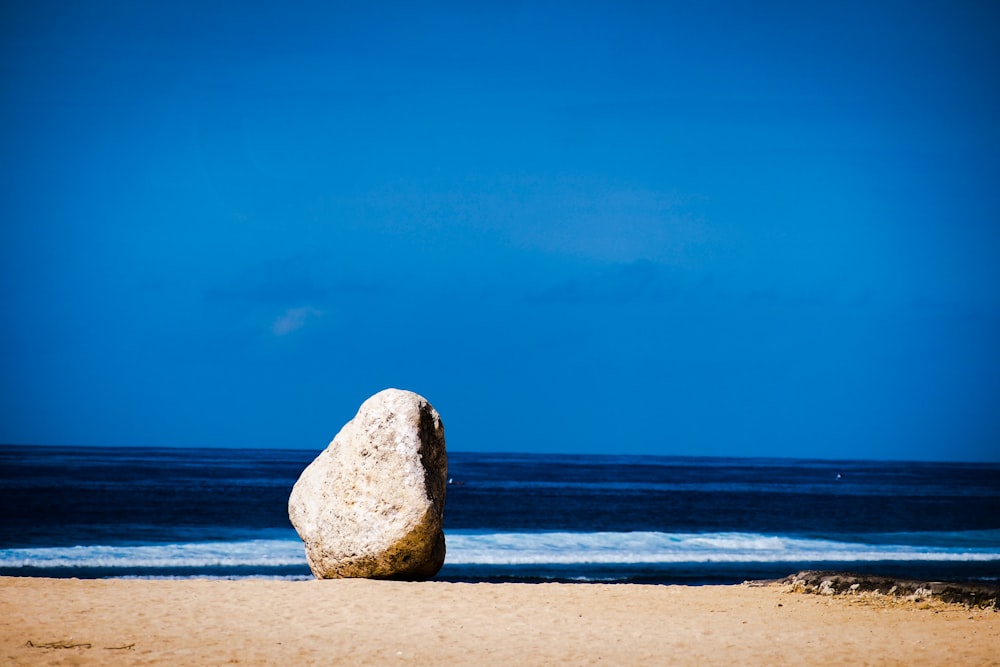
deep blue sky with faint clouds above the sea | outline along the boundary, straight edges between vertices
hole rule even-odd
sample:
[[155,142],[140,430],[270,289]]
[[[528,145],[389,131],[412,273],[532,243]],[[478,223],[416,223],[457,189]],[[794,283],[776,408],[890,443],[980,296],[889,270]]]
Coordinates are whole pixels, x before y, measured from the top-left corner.
[[1000,460],[990,3],[354,4],[3,3],[0,441]]

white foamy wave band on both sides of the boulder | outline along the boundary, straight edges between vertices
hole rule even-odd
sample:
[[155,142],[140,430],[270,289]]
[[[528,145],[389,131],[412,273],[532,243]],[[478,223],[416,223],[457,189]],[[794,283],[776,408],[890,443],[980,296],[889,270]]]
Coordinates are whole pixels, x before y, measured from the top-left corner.
[[[864,544],[755,533],[447,534],[449,565],[1000,561],[1000,545]],[[0,568],[306,568],[298,540],[0,550]]]

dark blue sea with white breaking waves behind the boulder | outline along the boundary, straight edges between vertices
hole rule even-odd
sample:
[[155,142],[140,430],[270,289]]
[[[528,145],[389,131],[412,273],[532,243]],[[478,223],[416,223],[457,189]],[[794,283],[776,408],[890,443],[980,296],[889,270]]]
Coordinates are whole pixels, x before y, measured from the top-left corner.
[[[308,578],[318,450],[0,446],[0,575]],[[1000,465],[449,453],[451,581],[1000,581]]]

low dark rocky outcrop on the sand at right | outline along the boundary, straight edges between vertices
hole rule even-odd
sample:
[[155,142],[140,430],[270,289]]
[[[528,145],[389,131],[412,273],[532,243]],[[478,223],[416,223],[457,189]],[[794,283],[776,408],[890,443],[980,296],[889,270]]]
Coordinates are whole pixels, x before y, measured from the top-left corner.
[[791,586],[793,591],[817,595],[886,595],[912,600],[934,599],[979,609],[1000,609],[1000,585],[986,583],[896,579],[852,572],[803,570],[771,582]]

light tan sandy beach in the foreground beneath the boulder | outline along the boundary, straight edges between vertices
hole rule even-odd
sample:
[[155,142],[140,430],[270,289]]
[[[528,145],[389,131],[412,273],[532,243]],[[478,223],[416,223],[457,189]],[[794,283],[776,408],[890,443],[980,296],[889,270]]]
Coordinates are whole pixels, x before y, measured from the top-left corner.
[[781,586],[0,578],[0,663],[1000,665],[1000,614]]

